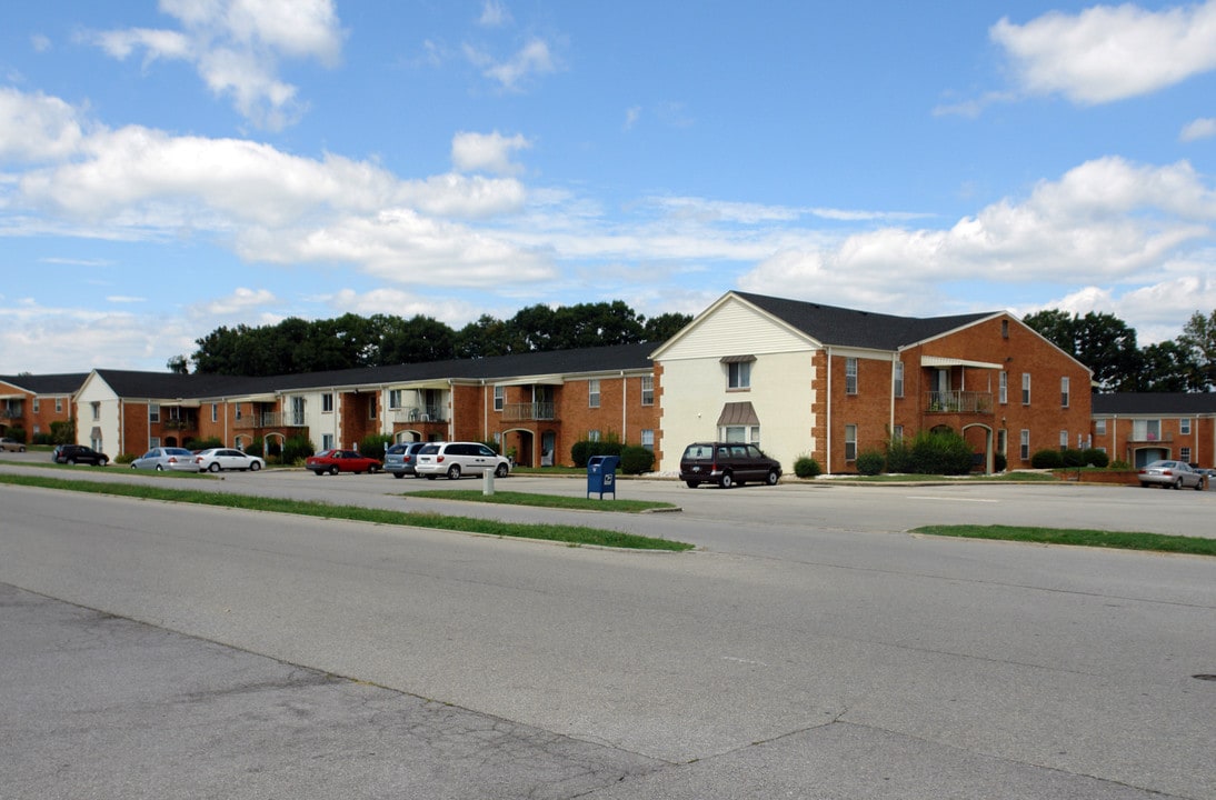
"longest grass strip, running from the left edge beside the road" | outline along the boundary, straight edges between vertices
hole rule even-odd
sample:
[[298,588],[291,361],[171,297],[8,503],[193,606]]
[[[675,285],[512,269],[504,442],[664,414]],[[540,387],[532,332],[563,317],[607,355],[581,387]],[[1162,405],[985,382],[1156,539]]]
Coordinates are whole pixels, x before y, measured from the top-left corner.
[[321,517],[323,519],[350,519],[355,522],[376,523],[381,525],[409,525],[412,528],[434,528],[438,530],[457,530],[486,536],[539,539],[544,541],[575,545],[597,545],[601,547],[621,547],[629,550],[692,550],[692,545],[638,536],[601,528],[580,528],[572,525],[540,525],[528,523],[507,523],[497,519],[474,519],[472,517],[449,517],[422,512],[388,511],[366,508],[362,506],[336,506],[319,501],[286,500],[278,497],[258,497],[196,489],[168,489],[136,484],[98,483],[90,480],[64,480],[61,478],[41,478],[33,475],[0,475],[0,483],[41,489],[60,489],[64,491],[83,491],[95,495],[117,495],[139,497],[142,500],[161,500],[199,506],[218,506],[242,511],[269,511],[281,514],[300,514]]

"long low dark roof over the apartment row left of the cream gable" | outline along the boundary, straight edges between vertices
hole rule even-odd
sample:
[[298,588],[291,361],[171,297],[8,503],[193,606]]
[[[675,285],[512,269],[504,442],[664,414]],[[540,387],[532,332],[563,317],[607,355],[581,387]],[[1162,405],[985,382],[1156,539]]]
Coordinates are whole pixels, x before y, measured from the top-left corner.
[[648,370],[652,366],[649,353],[654,347],[653,343],[620,344],[606,348],[518,353],[485,359],[452,359],[427,364],[356,367],[260,378],[126,370],[97,370],[97,374],[122,398],[233,398],[270,391],[361,387],[445,378],[492,381],[534,374]]

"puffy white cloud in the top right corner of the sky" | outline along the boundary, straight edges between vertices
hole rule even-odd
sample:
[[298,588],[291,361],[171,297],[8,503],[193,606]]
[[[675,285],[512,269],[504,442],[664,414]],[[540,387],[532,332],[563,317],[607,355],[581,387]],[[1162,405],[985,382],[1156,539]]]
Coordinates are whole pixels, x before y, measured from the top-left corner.
[[1216,69],[1216,0],[1161,11],[1131,4],[1053,11],[1024,26],[1003,18],[990,35],[1023,90],[1105,103]]

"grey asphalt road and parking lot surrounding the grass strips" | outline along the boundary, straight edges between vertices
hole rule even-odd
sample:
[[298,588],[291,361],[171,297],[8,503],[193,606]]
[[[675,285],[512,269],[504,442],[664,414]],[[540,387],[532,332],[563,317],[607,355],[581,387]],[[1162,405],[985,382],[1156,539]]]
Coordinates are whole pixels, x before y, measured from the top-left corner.
[[[383,475],[182,483],[457,508]],[[0,486],[0,794],[1216,799],[1216,559],[903,533],[1210,535],[1216,494],[620,494],[685,511],[563,517],[702,550]]]

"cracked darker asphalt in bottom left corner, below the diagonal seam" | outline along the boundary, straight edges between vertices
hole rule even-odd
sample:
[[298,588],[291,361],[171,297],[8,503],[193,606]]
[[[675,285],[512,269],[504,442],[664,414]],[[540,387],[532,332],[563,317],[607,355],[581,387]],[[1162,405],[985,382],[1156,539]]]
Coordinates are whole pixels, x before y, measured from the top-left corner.
[[0,795],[573,798],[663,767],[0,584]]

